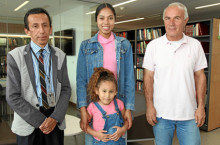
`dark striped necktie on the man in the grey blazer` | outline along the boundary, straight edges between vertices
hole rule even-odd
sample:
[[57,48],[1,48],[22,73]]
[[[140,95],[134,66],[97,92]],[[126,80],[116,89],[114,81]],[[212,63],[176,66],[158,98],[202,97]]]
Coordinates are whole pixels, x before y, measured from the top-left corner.
[[46,73],[44,71],[44,58],[43,58],[43,51],[44,49],[40,49],[40,55],[39,55],[39,74],[40,74],[40,86],[41,86],[41,94],[42,94],[42,104],[43,106],[48,109],[48,101],[47,101],[47,89],[46,89],[46,82],[45,82],[45,76]]

